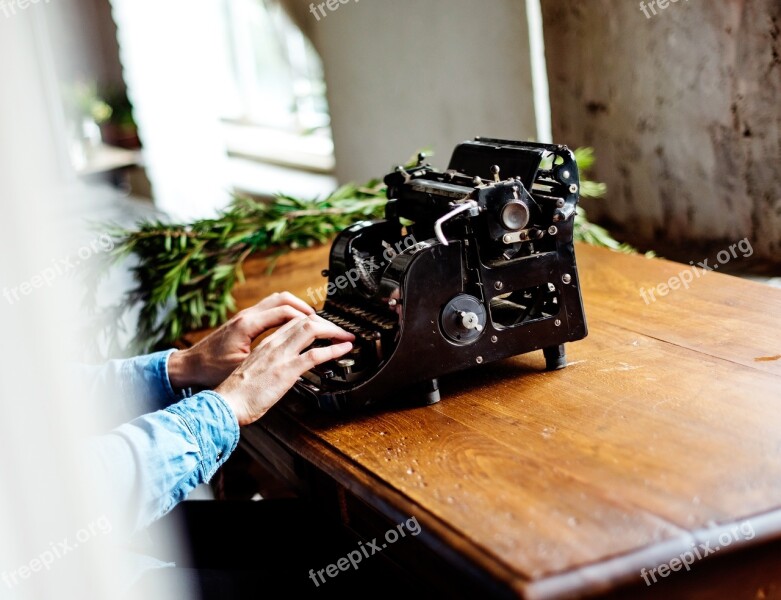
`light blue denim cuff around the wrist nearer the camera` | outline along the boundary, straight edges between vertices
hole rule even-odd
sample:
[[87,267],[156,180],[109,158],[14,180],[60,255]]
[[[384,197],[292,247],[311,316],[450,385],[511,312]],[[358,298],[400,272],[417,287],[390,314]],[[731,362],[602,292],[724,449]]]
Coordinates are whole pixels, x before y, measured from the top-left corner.
[[233,410],[217,392],[205,391],[166,411],[180,417],[197,440],[203,481],[209,481],[239,445],[239,422]]

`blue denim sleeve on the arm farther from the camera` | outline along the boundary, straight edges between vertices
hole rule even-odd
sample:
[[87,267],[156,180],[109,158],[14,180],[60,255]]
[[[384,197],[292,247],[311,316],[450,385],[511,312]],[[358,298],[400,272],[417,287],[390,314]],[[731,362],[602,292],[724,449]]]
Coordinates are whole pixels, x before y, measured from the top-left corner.
[[175,350],[155,352],[124,360],[110,360],[100,366],[81,365],[78,376],[89,399],[113,423],[161,410],[177,396],[168,379],[168,357]]

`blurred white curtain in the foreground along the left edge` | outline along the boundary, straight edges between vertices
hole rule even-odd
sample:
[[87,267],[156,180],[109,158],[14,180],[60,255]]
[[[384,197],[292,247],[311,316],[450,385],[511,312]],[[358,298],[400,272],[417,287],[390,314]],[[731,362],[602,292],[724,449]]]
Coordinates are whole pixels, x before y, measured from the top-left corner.
[[[0,61],[0,598],[91,600],[115,597],[130,574],[79,449],[105,430],[68,385],[82,343],[79,280],[35,283],[73,250],[61,221],[73,175],[50,45],[68,21],[49,8],[0,17],[0,55],[13,57]],[[106,527],[92,535],[97,521]]]

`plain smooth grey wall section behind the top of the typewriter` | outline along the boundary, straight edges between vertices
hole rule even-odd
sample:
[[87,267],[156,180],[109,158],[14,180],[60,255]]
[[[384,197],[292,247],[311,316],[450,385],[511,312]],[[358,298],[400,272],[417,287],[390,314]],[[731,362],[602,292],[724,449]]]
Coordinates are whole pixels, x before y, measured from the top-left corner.
[[536,136],[525,2],[361,0],[319,21],[294,4],[325,65],[341,181],[425,146],[444,167],[476,135]]

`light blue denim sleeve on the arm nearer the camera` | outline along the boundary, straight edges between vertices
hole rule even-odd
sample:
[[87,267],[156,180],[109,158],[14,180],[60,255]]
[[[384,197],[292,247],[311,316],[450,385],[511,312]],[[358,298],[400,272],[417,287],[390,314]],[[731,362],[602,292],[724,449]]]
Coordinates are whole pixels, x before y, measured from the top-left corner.
[[208,482],[235,450],[239,424],[205,391],[88,442],[88,460],[112,512],[136,532]]

